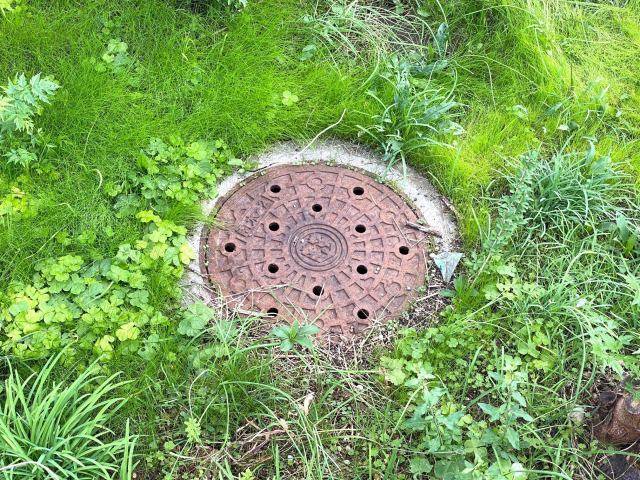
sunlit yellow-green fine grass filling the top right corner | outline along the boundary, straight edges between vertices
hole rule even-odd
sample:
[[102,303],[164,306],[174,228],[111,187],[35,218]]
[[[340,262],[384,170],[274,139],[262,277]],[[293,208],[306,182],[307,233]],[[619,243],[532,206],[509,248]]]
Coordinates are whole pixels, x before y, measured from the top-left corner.
[[[612,2],[613,3],[613,2]],[[444,3],[457,64],[457,92],[466,104],[467,133],[453,149],[425,152],[415,162],[435,172],[465,212],[463,231],[476,235],[479,192],[504,159],[530,148],[601,151],[628,161],[640,178],[640,6],[626,2],[476,0]],[[440,8],[428,10],[434,25]],[[601,98],[602,95],[602,98]],[[549,107],[562,102],[554,115]],[[526,108],[518,116],[516,105]],[[604,109],[604,115],[597,111]],[[616,118],[620,112],[621,117]],[[563,133],[561,125],[576,122]],[[570,147],[571,148],[571,147]]]

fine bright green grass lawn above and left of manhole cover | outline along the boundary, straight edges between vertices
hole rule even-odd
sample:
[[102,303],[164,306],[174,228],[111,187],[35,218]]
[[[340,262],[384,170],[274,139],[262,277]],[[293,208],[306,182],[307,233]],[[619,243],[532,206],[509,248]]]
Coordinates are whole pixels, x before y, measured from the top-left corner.
[[[135,88],[127,76],[97,73],[90,63],[104,51],[99,19],[108,12],[122,25],[111,36],[126,41],[139,62]],[[93,247],[71,246],[85,255],[92,248],[108,254],[136,238],[138,226],[115,218],[100,185],[131,171],[150,137],[222,138],[247,155],[278,140],[310,138],[344,108],[357,109],[357,72],[298,61],[300,16],[292,1],[260,3],[225,30],[215,15],[163,1],[82,9],[43,2],[0,23],[0,71],[44,72],[63,86],[40,123],[56,145],[53,172],[32,175],[23,188],[40,199],[39,215],[0,232],[0,284],[24,280],[34,261],[68,252],[55,241],[58,232],[95,232]],[[285,90],[300,102],[284,107]]]

